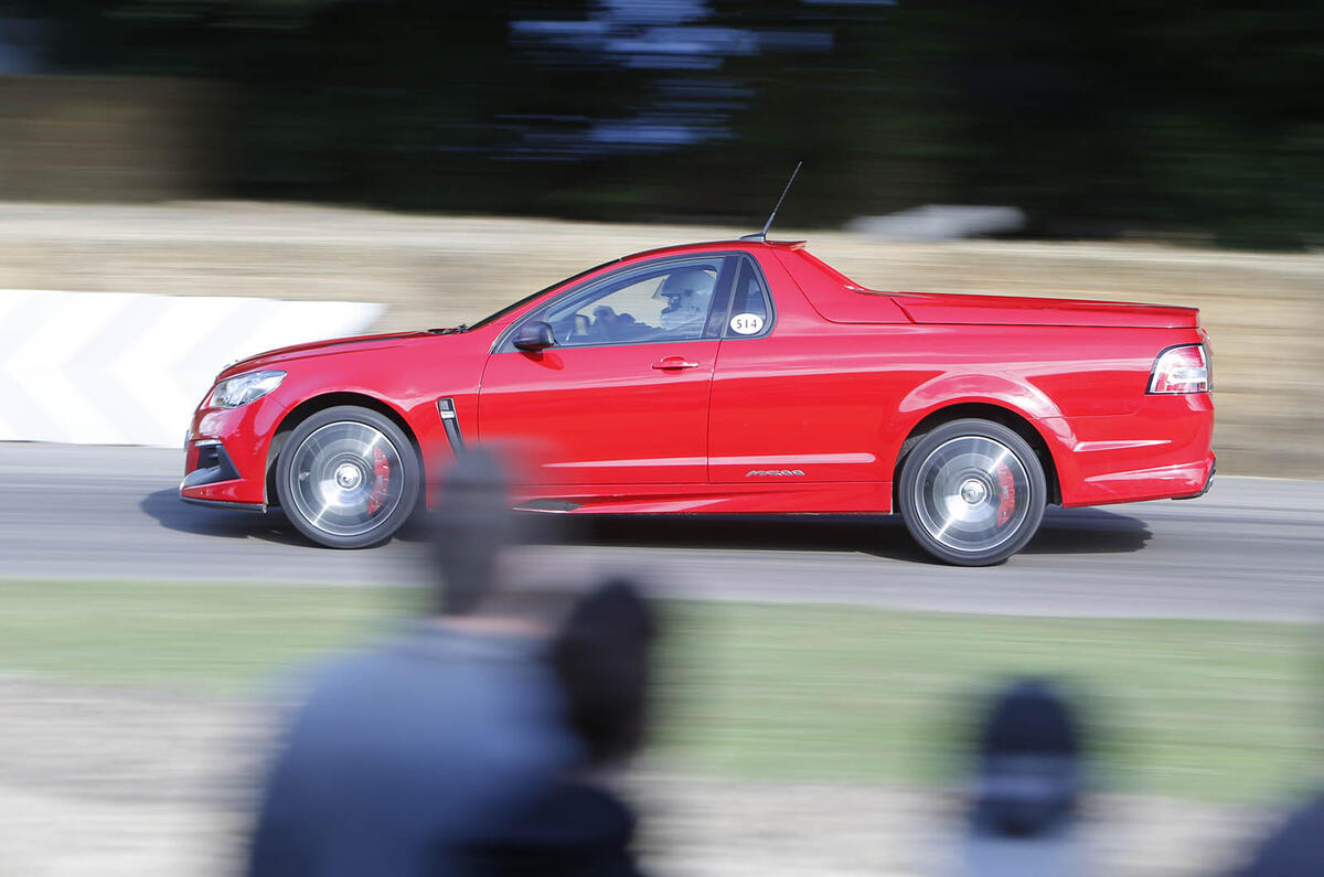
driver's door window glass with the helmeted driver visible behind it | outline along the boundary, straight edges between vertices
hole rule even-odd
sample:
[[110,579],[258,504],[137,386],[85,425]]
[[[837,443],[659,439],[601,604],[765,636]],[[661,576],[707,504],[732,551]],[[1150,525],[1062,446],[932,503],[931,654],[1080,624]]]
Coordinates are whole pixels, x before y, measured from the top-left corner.
[[563,347],[703,336],[724,257],[645,266],[555,302],[542,317]]

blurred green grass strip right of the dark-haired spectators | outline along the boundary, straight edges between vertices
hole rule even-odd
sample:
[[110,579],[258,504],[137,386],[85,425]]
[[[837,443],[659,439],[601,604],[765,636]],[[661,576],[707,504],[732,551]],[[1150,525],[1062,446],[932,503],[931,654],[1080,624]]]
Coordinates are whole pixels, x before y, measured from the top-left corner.
[[1324,742],[1301,625],[683,605],[667,746],[722,772],[949,778],[973,706],[1013,674],[1079,698],[1108,784],[1275,796]]

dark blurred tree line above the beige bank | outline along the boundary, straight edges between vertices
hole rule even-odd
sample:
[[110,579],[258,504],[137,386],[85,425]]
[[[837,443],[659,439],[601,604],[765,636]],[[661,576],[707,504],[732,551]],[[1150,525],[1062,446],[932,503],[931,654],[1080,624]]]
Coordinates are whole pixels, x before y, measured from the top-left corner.
[[796,227],[992,204],[1049,238],[1324,229],[1313,3],[0,8],[9,199],[748,227],[804,159]]

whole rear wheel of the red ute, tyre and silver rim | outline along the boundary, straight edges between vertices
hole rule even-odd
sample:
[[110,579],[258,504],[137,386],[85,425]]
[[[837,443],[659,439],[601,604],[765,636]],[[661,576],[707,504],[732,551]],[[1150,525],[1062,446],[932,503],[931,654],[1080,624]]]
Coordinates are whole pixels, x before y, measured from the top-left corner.
[[1049,495],[1034,449],[989,420],[953,420],[922,437],[902,462],[896,493],[915,542],[944,563],[967,567],[1023,548]]

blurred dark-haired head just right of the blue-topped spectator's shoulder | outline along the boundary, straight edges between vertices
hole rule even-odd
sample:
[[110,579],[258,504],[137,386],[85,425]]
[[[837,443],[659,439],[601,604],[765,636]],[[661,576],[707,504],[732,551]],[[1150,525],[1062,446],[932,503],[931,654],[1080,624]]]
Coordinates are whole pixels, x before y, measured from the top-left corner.
[[593,766],[625,758],[643,742],[655,637],[649,604],[630,583],[612,579],[576,601],[552,643],[567,719]]

